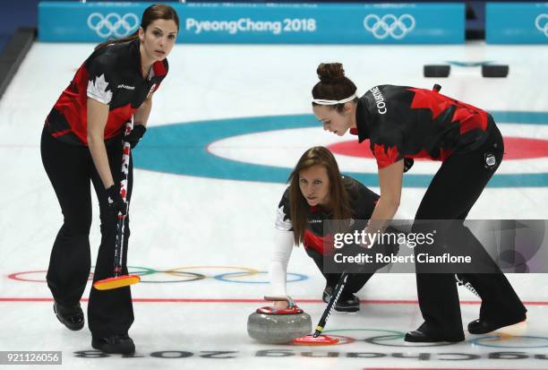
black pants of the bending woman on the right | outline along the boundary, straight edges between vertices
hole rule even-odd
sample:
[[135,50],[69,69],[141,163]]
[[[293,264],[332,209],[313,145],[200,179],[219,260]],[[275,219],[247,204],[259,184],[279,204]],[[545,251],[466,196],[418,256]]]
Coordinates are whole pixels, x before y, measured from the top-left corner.
[[[484,248],[462,220],[467,218],[468,211],[484,191],[504,153],[501,132],[491,117],[488,132],[489,137],[480,148],[466,153],[454,152],[443,162],[416,212],[415,219],[460,220],[450,226],[450,236],[459,244],[454,245],[456,249],[463,245],[467,250]],[[496,158],[492,167],[487,165],[489,154]],[[415,231],[420,230],[415,228]],[[420,251],[415,248],[415,253]],[[476,254],[491,259],[486,252]],[[523,317],[527,310],[509,281],[498,267],[494,266],[492,271],[495,273],[465,275],[482,298],[480,319],[504,323]],[[441,338],[464,339],[454,275],[421,273],[417,269],[416,287],[424,317],[421,329]]]

